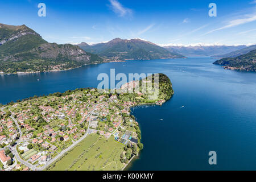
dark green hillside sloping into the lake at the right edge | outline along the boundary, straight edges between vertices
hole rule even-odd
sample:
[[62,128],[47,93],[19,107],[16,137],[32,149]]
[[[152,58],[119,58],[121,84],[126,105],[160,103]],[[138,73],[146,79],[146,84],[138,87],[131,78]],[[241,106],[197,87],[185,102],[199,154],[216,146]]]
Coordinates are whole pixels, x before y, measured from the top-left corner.
[[217,60],[213,64],[224,65],[225,69],[256,72],[256,49],[245,55]]

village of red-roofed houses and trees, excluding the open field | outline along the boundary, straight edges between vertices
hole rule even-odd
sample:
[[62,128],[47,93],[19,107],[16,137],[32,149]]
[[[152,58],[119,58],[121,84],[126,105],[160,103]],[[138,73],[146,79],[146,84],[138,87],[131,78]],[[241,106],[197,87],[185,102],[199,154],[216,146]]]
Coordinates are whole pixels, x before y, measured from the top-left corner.
[[96,89],[77,89],[2,107],[1,170],[42,170],[89,134],[136,145],[138,123],[130,117],[135,104]]

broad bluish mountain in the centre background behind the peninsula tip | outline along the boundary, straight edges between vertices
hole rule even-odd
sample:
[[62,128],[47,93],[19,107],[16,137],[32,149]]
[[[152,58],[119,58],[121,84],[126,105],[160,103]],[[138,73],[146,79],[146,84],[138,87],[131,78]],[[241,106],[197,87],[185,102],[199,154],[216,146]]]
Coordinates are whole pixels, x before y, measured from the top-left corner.
[[170,59],[185,58],[174,51],[168,51],[154,43],[141,39],[113,39],[107,43],[94,44],[89,46],[81,43],[80,46],[86,52],[96,53],[105,60],[151,60],[151,59]]

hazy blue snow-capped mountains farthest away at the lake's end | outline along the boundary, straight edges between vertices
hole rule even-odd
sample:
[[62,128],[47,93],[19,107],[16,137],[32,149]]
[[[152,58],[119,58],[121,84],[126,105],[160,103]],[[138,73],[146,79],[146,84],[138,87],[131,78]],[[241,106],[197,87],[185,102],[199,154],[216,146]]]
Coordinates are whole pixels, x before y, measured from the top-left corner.
[[246,46],[164,46],[187,57],[210,57],[236,51]]

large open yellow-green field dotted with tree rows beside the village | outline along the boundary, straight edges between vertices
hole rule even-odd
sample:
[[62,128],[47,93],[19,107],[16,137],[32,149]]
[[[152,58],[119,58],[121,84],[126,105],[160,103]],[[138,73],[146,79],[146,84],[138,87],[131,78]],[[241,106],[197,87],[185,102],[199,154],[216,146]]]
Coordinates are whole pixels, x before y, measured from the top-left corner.
[[122,144],[115,142],[113,136],[106,140],[100,135],[91,134],[56,162],[50,170],[121,170],[124,165],[119,159],[123,147]]

